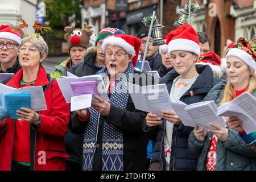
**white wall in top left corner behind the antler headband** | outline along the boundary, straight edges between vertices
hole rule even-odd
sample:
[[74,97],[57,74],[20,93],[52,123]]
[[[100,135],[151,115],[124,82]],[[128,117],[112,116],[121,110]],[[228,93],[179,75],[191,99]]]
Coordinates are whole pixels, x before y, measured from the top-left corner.
[[26,20],[28,34],[34,32],[36,0],[0,0],[0,24],[20,24],[19,19]]

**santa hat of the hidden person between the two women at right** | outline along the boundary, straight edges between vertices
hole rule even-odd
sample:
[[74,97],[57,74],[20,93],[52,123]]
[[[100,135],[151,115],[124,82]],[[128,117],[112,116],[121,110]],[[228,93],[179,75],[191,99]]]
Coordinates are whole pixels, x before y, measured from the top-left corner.
[[200,56],[196,64],[209,65],[212,68],[214,75],[220,78],[223,75],[221,69],[221,58],[214,52],[207,52]]

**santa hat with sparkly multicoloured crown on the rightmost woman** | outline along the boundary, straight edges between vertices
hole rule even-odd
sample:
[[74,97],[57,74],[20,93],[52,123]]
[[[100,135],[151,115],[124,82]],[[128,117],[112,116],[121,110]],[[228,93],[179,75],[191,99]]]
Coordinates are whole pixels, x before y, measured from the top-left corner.
[[241,59],[254,70],[254,75],[256,75],[256,49],[254,43],[245,38],[239,38],[234,44],[234,48],[227,53],[226,59],[229,56],[236,56]]

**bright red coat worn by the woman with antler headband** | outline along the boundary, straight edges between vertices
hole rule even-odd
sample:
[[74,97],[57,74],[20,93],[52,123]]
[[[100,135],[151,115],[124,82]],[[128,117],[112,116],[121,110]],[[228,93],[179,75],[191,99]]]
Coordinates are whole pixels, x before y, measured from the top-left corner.
[[[20,78],[23,69],[20,69],[6,84],[14,88],[20,88]],[[38,77],[34,86],[48,85],[46,71],[39,68]],[[65,152],[64,134],[67,132],[69,121],[69,105],[65,102],[56,80],[52,81],[52,87],[48,86],[46,94],[47,110],[40,111],[42,124],[36,130],[35,152],[31,158],[35,159],[35,170],[65,170],[65,158],[69,157]],[[0,130],[0,170],[11,169],[13,144],[15,136],[14,119],[5,119],[7,127]],[[27,141],[30,142],[30,141]],[[31,143],[30,143],[31,144]]]

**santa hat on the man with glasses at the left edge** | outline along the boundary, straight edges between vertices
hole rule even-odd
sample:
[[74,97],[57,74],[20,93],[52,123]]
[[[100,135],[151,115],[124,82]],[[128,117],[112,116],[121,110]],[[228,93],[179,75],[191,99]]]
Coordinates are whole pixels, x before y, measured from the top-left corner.
[[0,26],[0,39],[13,40],[17,44],[21,43],[21,34],[18,30],[14,30],[8,25],[2,24]]

